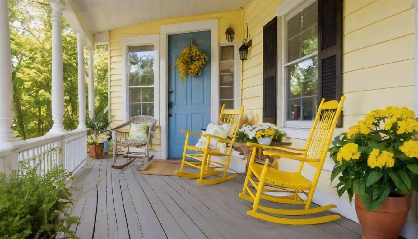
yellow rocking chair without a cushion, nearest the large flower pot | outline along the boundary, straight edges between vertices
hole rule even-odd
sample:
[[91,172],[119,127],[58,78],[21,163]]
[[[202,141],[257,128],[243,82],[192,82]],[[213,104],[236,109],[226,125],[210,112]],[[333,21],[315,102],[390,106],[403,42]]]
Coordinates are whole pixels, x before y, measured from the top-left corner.
[[[326,103],[324,103],[325,99],[321,100],[318,113],[316,114],[314,124],[304,149],[247,143],[248,146],[254,147],[247,175],[245,177],[244,187],[239,196],[240,198],[253,202],[252,210],[247,211],[248,215],[265,221],[288,225],[319,224],[340,218],[339,215],[327,215],[315,218],[289,218],[288,216],[308,215],[336,208],[335,205],[320,206],[316,208],[309,208],[309,206],[311,205],[316,185],[318,184],[319,175],[321,175],[322,166],[324,165],[344,99],[345,96],[342,96],[340,102],[331,100]],[[255,163],[257,147],[266,149],[263,154],[274,156],[273,167],[269,167],[268,159],[264,165]],[[278,159],[282,157],[300,161],[298,171],[284,172],[278,170]],[[313,181],[310,181],[301,175],[304,163],[310,164],[316,168]],[[253,176],[255,176],[257,180],[253,180]],[[248,186],[248,182],[251,182],[255,190],[257,190],[256,194],[252,192]],[[248,192],[248,195],[245,194],[246,192]],[[283,193],[286,193],[287,195],[283,195]],[[303,200],[299,193],[305,194],[307,199]],[[282,194],[282,196],[279,196],[278,194]],[[260,199],[276,203],[301,204],[304,205],[304,209],[278,209],[261,206]],[[257,209],[267,213],[286,215],[287,217],[278,217],[261,213],[258,212]]]

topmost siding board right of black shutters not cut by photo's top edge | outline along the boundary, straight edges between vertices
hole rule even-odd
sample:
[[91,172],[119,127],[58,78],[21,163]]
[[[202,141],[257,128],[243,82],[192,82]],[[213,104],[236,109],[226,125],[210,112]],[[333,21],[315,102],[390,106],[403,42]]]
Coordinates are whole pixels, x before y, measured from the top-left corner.
[[[405,36],[414,32],[414,10],[394,15],[372,25],[353,31],[343,38],[343,52],[354,51],[366,46]],[[382,31],[386,29],[386,31]]]

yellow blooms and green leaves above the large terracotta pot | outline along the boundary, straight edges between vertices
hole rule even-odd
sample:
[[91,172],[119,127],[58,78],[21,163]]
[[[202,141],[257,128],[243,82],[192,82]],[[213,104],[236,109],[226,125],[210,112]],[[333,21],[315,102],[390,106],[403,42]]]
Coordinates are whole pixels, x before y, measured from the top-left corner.
[[364,120],[332,141],[335,162],[331,182],[338,177],[338,195],[354,193],[367,211],[388,196],[402,196],[418,189],[418,121],[408,108],[388,106],[371,111]]

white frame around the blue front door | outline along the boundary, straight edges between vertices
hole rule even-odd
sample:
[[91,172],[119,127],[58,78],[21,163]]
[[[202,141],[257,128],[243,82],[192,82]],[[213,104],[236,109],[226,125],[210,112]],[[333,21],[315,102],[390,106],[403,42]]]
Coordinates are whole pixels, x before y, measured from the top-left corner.
[[160,34],[160,126],[161,126],[161,159],[168,155],[168,35],[211,31],[211,121],[219,118],[219,46],[218,19],[176,23],[161,26]]

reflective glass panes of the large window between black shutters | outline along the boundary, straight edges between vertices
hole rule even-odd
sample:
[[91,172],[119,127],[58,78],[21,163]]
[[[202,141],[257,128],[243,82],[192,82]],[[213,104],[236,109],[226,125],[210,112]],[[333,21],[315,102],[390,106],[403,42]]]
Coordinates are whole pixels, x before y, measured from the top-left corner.
[[287,120],[313,121],[317,108],[318,23],[316,1],[286,23]]

